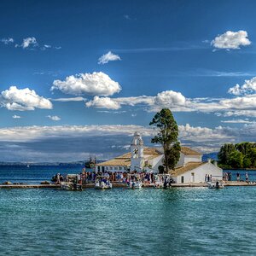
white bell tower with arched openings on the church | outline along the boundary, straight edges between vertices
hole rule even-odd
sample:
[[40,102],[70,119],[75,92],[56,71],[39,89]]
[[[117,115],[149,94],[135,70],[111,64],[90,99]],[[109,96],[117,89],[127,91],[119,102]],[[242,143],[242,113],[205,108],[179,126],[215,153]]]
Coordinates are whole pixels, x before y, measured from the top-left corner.
[[144,154],[143,154],[143,138],[141,135],[136,131],[134,133],[132,142],[131,142],[131,172],[143,171],[144,165]]

